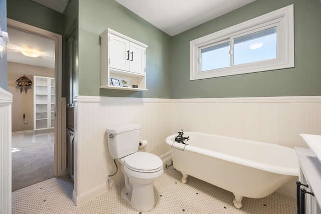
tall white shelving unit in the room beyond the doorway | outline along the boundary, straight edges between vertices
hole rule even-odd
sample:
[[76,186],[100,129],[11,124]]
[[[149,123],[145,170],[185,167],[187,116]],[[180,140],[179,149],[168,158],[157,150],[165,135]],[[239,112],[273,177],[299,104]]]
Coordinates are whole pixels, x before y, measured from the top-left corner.
[[55,78],[34,76],[34,130],[55,125]]

